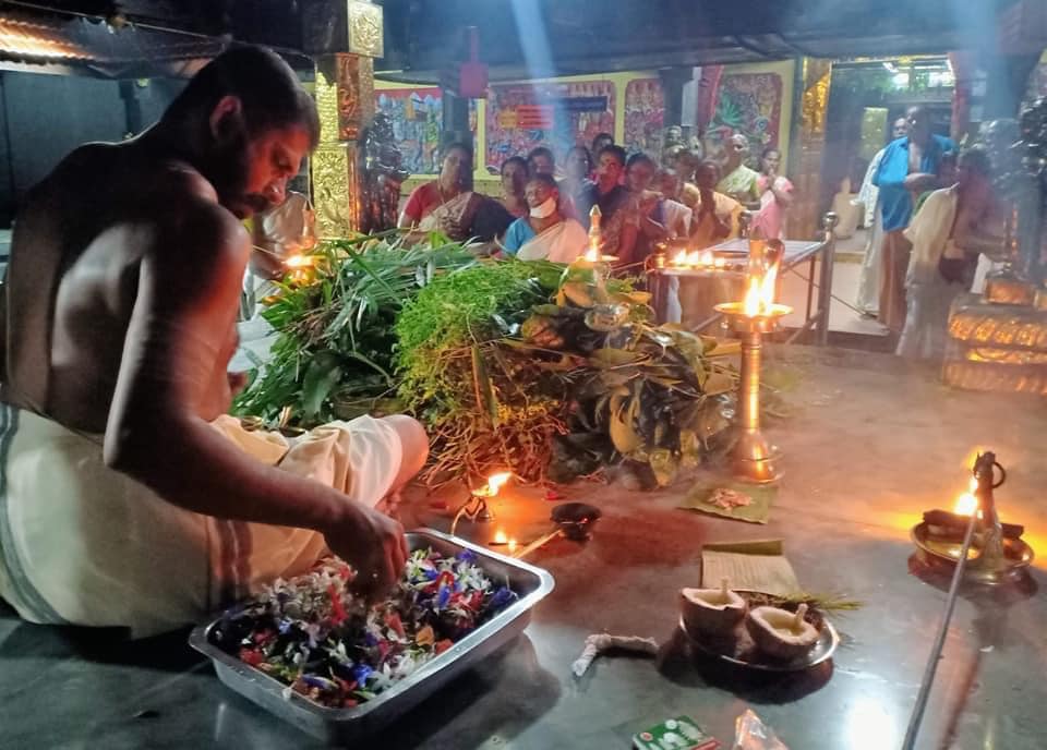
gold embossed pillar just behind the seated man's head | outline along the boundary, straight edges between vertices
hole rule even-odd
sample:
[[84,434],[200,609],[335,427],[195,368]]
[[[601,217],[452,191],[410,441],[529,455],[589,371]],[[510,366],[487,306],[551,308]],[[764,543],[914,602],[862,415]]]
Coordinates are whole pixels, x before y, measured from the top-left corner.
[[360,154],[374,117],[374,58],[382,57],[382,7],[314,0],[302,9],[306,51],[316,60],[321,140],[313,153],[316,233],[347,237],[364,223]]

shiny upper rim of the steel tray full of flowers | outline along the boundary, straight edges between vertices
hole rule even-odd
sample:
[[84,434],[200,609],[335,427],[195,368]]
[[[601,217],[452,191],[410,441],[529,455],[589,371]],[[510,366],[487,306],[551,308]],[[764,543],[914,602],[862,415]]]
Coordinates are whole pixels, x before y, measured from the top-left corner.
[[[468,654],[469,651],[484,643],[489,639],[495,637],[498,631],[513,625],[520,617],[529,617],[530,610],[538,604],[541,600],[545,598],[556,585],[555,580],[553,579],[552,573],[543,568],[530,565],[524,560],[516,559],[515,557],[508,557],[500,553],[488,549],[479,544],[474,544],[467,540],[464,540],[459,536],[452,536],[450,534],[445,534],[442,531],[430,528],[419,528],[412,529],[411,531],[406,532],[407,535],[418,535],[422,537],[431,537],[438,540],[441,542],[449,543],[464,549],[469,549],[473,553],[479,554],[481,557],[486,557],[489,559],[497,560],[504,565],[516,568],[524,572],[530,573],[538,578],[538,586],[527,594],[526,596],[520,597],[508,607],[498,613],[495,617],[484,622],[482,626],[473,630],[471,633],[462,638],[460,641],[455,643],[450,649],[444,653],[435,656],[434,658],[426,662],[420,669],[414,672],[409,677],[400,680],[388,690],[382,692],[373,700],[361,703],[360,705],[350,707],[350,709],[336,709],[327,705],[322,705],[316,703],[305,695],[302,695],[297,692],[291,692],[290,699],[284,699],[282,694],[281,700],[287,700],[287,703],[294,707],[296,711],[304,711],[308,714],[312,714],[314,717],[323,721],[324,723],[352,723],[357,721],[364,719],[369,714],[383,709],[386,704],[395,700],[398,695],[421,686],[430,677],[433,677],[436,673],[444,669],[445,667],[454,664],[460,657]],[[260,681],[263,690],[267,690],[273,693],[282,693],[282,691],[288,687],[284,682],[279,681],[272,675],[268,675],[261,669],[252,667],[244,662],[241,662],[236,656],[227,654],[221,649],[218,649],[213,643],[209,642],[207,636],[219,620],[221,619],[220,615],[208,619],[207,622],[198,625],[193,628],[192,632],[189,636],[189,645],[198,651],[204,656],[207,656],[214,663],[220,663],[227,669],[237,674],[237,676],[246,679]],[[525,626],[526,627],[526,626]],[[522,629],[522,628],[521,628]],[[264,679],[263,679],[264,678]],[[225,684],[225,680],[221,680]],[[232,686],[226,685],[226,687],[240,692],[232,688]],[[252,700],[250,697],[248,700],[251,700],[252,703],[260,705],[262,709],[266,709],[264,704],[258,703],[257,701]],[[272,713],[272,712],[269,712]],[[278,716],[279,717],[279,716]],[[281,717],[282,718],[282,717]]]

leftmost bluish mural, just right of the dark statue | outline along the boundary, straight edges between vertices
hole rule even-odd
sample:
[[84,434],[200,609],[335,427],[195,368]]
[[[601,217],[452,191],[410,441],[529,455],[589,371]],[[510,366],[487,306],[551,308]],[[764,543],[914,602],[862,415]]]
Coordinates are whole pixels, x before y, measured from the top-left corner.
[[377,109],[393,121],[393,134],[404,155],[402,167],[413,174],[440,171],[443,99],[440,88],[388,88],[375,92]]

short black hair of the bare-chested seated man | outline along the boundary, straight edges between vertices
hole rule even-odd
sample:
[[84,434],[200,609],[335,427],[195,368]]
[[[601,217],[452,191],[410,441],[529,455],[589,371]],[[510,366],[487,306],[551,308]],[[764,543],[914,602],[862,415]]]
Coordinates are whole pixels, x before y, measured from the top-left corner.
[[320,142],[316,104],[291,66],[263,47],[234,47],[216,57],[192,77],[164,118],[209,113],[226,96],[240,99],[252,135],[297,125],[309,133],[312,147]]

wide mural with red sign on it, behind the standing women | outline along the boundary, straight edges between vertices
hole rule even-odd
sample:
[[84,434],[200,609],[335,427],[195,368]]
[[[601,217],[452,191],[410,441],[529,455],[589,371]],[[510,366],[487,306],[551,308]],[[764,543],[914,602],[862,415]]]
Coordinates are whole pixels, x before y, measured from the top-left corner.
[[484,164],[496,172],[508,157],[535,146],[552,148],[559,161],[575,144],[588,146],[597,133],[614,132],[614,106],[610,81],[493,85]]

